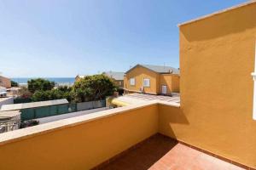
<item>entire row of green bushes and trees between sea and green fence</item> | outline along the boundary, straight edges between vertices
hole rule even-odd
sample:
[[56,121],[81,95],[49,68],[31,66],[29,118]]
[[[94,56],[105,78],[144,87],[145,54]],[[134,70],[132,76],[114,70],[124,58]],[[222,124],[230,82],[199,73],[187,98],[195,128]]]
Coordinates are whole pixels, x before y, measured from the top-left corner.
[[69,102],[85,102],[105,99],[117,90],[111,78],[105,75],[84,77],[75,82],[72,88],[61,86],[53,88],[54,82],[44,79],[31,80],[28,89],[33,92],[32,101],[67,99]]

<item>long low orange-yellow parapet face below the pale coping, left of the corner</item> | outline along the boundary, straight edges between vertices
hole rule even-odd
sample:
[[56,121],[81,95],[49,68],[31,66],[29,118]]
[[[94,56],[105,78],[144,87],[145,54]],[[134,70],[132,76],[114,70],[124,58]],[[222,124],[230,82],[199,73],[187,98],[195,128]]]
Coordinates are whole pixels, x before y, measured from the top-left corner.
[[158,105],[149,105],[19,139],[0,145],[0,169],[90,169],[157,133],[157,120]]

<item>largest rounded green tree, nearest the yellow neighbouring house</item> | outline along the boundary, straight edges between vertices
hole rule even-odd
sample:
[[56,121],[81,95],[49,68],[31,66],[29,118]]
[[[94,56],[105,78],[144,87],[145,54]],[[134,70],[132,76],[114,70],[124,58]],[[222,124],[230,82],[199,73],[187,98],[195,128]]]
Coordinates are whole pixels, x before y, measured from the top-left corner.
[[114,91],[116,87],[113,80],[103,74],[84,77],[73,85],[73,93],[77,102],[105,99]]

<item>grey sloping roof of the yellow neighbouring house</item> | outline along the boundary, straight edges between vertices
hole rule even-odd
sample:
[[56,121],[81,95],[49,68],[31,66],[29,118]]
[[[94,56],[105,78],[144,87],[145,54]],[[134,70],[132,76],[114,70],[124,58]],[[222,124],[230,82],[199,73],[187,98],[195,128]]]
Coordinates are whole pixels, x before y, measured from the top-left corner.
[[[179,70],[177,68],[174,68],[172,66],[166,66],[166,65],[135,65],[129,71],[133,70],[137,66],[143,66],[144,68],[147,68],[148,70],[154,71],[154,72],[157,72],[157,73],[179,74]],[[126,71],[126,73],[129,72],[129,71]]]

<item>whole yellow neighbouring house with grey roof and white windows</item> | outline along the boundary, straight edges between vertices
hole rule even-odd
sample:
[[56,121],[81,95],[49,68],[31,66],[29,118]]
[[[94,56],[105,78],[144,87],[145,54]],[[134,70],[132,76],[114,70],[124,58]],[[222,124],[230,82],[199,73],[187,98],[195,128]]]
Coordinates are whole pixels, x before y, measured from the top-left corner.
[[125,93],[179,93],[179,70],[171,66],[135,65],[125,73]]

